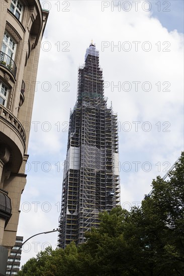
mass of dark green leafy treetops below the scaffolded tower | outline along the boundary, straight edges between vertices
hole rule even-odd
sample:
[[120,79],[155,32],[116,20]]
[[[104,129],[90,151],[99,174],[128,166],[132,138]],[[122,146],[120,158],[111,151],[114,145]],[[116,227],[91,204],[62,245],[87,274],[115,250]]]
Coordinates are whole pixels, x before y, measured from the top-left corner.
[[140,208],[101,213],[100,227],[86,233],[84,244],[48,247],[18,275],[184,275],[184,153],[169,177],[153,180]]

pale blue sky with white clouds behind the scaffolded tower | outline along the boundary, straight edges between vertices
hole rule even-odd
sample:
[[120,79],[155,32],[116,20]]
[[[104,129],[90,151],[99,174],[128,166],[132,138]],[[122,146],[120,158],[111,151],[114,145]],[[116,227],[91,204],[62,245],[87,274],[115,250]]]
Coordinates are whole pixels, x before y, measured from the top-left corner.
[[[163,177],[183,150],[183,2],[41,5],[50,14],[41,43],[17,232],[24,240],[58,228],[69,113],[91,39],[100,51],[108,105],[112,102],[118,113],[122,207],[140,206],[152,180]],[[57,232],[30,239],[21,265],[48,245],[57,246]]]

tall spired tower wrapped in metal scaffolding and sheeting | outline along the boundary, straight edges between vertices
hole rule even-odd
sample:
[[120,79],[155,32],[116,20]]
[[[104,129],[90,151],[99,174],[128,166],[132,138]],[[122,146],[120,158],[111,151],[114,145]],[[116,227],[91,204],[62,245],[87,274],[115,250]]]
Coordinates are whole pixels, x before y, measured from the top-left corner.
[[99,212],[120,204],[118,123],[104,97],[99,53],[91,44],[78,69],[77,102],[70,113],[58,246],[85,241]]

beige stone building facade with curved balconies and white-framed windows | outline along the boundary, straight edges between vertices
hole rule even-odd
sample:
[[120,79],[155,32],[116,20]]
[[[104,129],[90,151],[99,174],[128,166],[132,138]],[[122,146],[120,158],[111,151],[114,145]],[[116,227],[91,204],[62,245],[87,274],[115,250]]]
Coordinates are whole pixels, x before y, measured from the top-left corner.
[[28,126],[47,18],[48,12],[42,11],[38,0],[1,0],[0,245],[9,252],[16,241],[21,194],[26,185]]

